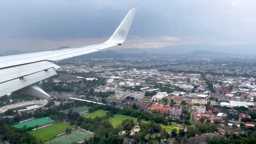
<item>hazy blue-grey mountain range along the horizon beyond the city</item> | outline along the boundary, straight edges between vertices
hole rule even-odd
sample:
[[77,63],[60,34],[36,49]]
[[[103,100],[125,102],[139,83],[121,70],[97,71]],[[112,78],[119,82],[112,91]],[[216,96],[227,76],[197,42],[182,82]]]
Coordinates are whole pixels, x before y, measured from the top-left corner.
[[[62,46],[59,49],[66,49],[69,46]],[[15,55],[22,53],[21,51],[5,51],[0,53],[0,56]],[[237,57],[237,56],[256,56],[256,44],[244,45],[210,45],[210,44],[193,44],[193,45],[173,45],[161,48],[130,48],[130,49],[109,49],[89,53],[84,57]],[[82,56],[83,57],[83,56]]]

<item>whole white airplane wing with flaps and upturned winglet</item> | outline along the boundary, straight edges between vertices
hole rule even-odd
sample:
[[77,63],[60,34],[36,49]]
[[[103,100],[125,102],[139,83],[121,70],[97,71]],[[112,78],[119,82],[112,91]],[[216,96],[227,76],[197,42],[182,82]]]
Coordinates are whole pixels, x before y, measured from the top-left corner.
[[136,9],[131,9],[112,37],[101,44],[0,57],[0,97],[19,90],[28,95],[49,99],[50,96],[34,83],[57,74],[55,70],[60,67],[52,62],[121,45],[135,13]]

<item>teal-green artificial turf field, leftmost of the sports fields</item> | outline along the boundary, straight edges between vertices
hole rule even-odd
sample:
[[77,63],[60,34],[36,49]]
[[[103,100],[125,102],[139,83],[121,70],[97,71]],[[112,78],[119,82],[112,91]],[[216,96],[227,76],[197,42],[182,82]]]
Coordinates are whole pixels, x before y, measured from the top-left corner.
[[53,122],[55,122],[53,119],[37,118],[37,119],[33,119],[31,121],[28,121],[28,122],[16,124],[13,127],[15,127],[15,128],[22,128],[22,127],[24,127],[24,125],[26,125],[27,128],[28,128],[28,127],[35,127],[36,125],[42,125],[42,124],[53,123]]

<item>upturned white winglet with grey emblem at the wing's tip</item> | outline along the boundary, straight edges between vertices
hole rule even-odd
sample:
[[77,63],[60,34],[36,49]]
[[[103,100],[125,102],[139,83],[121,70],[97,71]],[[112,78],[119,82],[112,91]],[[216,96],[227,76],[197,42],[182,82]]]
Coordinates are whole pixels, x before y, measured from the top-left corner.
[[129,32],[129,29],[131,27],[131,23],[135,13],[136,9],[131,9],[129,13],[125,16],[124,20],[120,23],[118,28],[115,29],[113,35],[104,43],[117,45],[121,45],[122,43],[124,43],[126,36]]

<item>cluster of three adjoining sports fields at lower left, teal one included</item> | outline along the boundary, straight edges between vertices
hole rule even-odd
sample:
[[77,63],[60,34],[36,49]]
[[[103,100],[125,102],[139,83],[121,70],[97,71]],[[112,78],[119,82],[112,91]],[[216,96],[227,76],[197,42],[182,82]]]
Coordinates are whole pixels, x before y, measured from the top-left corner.
[[[73,143],[81,142],[84,139],[88,139],[94,133],[86,130],[75,129],[72,125],[65,123],[55,122],[49,118],[37,118],[30,119],[19,124],[13,125],[15,128],[32,127],[32,131],[29,131],[31,135],[36,137],[39,141],[45,143]],[[37,127],[37,129],[35,128]],[[66,129],[72,129],[71,134],[66,134]]]

